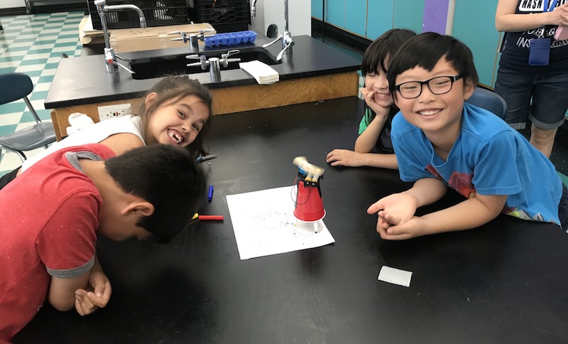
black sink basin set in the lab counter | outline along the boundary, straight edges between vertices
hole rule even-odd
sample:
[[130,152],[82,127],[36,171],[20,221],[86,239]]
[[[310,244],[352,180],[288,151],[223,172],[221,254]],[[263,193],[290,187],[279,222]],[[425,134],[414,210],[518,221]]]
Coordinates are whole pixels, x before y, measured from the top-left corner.
[[[278,61],[275,56],[261,47],[246,47],[246,48],[227,48],[225,50],[211,50],[200,52],[198,55],[204,55],[205,58],[221,58],[221,54],[226,53],[229,50],[239,50],[240,53],[236,55],[231,55],[229,58],[240,58],[241,62],[249,62],[253,60],[259,60],[267,65],[278,65]],[[176,53],[174,55],[162,55],[162,56],[152,56],[140,58],[128,58],[125,59],[130,63],[130,68],[135,72],[132,75],[133,79],[143,80],[151,79],[153,77],[163,77],[165,75],[179,75],[179,74],[195,74],[208,72],[207,70],[202,70],[200,65],[187,67],[188,63],[199,62],[199,60],[188,60],[185,58],[187,55],[194,55],[190,52]],[[231,70],[239,69],[239,63],[233,62],[229,63],[227,67],[222,67],[221,70]]]

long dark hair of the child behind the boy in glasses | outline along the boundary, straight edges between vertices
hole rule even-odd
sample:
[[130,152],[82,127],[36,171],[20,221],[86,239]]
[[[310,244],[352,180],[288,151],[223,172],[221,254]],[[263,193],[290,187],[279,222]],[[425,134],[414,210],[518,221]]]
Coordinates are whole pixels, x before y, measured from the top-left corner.
[[[412,30],[405,28],[392,28],[379,36],[373,43],[371,43],[365,50],[363,61],[361,61],[361,74],[365,77],[368,73],[378,74],[378,68],[386,72],[386,60],[390,60],[400,48],[403,43],[410,38],[416,36]],[[364,104],[364,119],[368,125],[373,121],[376,113],[368,107],[367,103]],[[391,111],[388,113],[388,119],[379,133],[379,139],[375,145],[375,149],[380,153],[392,153],[392,146],[385,146],[383,144],[383,136],[391,130],[391,122],[395,114],[399,111],[395,104],[391,105]],[[390,139],[386,140],[390,141]]]

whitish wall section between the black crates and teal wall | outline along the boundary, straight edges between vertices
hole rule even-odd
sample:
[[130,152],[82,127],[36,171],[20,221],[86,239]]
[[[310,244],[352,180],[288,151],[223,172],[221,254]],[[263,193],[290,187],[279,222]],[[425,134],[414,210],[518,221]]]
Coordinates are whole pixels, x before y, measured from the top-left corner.
[[[251,18],[253,30],[266,35],[271,23],[278,25],[278,34],[284,31],[284,0],[257,0],[256,18]],[[292,38],[312,35],[311,0],[288,0],[288,28]]]

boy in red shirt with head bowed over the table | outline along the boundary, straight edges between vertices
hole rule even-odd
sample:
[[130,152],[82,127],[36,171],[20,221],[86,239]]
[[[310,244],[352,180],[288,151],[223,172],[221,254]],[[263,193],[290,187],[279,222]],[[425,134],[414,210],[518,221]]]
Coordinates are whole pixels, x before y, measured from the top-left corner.
[[111,286],[97,260],[97,232],[111,240],[168,242],[205,193],[187,151],[107,146],[62,149],[0,190],[0,343],[31,321],[45,298],[81,315],[107,305]]

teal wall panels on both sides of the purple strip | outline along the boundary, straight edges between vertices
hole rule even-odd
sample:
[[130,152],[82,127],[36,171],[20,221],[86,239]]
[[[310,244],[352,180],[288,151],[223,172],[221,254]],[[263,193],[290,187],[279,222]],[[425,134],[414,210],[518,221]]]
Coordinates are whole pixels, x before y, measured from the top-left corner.
[[[373,41],[391,28],[422,32],[425,0],[325,0],[325,21]],[[452,35],[474,53],[479,82],[495,85],[501,35],[495,29],[496,0],[455,0]],[[312,16],[322,20],[322,0],[312,0]]]

